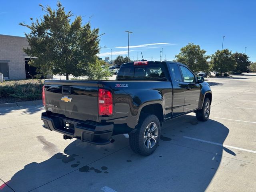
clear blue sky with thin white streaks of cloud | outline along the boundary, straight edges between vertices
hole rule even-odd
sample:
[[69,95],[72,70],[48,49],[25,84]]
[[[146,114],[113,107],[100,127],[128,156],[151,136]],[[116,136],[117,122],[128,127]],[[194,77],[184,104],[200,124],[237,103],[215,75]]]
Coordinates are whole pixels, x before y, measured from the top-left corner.
[[[19,22],[30,24],[30,17],[40,18],[44,12],[38,4],[56,7],[54,0],[8,0],[0,2],[0,34],[24,36],[28,32]],[[127,54],[130,30],[130,58],[173,60],[180,48],[193,42],[213,54],[222,47],[244,52],[256,61],[256,1],[254,0],[61,0],[66,10],[91,17],[92,28],[105,33],[100,41],[100,56],[112,59]]]

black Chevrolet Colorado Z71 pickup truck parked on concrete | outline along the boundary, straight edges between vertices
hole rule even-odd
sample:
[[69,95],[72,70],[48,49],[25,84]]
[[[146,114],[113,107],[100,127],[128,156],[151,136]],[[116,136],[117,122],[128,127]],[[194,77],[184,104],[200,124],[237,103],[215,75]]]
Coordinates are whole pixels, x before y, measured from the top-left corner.
[[44,128],[98,145],[129,134],[132,150],[147,156],[165,121],[190,112],[206,121],[212,92],[184,64],[139,61],[122,64],[114,81],[46,80],[42,98]]

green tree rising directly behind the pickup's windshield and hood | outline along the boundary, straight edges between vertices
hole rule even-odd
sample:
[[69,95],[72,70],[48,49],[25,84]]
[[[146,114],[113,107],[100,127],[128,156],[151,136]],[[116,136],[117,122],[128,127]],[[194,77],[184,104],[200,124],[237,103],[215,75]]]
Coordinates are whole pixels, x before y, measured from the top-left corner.
[[186,64],[194,72],[208,72],[209,65],[207,60],[210,56],[205,54],[206,51],[201,49],[199,45],[189,43],[180,49],[180,53],[175,55],[176,61]]

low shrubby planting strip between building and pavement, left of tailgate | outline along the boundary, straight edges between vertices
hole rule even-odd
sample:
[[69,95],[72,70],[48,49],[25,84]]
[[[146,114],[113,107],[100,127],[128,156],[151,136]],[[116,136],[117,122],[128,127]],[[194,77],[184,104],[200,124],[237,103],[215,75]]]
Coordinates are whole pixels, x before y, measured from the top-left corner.
[[42,99],[43,80],[8,80],[0,83],[0,103]]

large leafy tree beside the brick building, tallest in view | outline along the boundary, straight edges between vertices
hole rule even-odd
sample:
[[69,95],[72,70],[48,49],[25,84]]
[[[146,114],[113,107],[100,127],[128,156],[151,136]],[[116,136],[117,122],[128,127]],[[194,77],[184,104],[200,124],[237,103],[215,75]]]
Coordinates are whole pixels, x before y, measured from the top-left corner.
[[39,6],[45,12],[42,18],[30,18],[30,25],[20,23],[30,29],[25,33],[29,47],[24,52],[37,57],[30,65],[43,74],[65,74],[66,79],[69,74],[90,76],[89,64],[96,63],[95,56],[100,51],[99,29],[91,30],[90,22],[83,25],[81,16],[71,22],[73,14],[66,13],[60,2],[56,10]]

